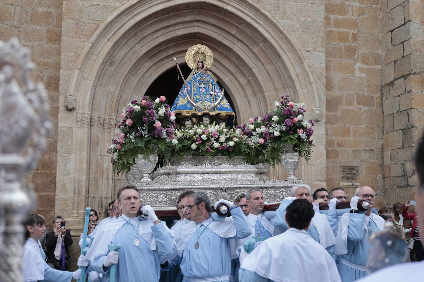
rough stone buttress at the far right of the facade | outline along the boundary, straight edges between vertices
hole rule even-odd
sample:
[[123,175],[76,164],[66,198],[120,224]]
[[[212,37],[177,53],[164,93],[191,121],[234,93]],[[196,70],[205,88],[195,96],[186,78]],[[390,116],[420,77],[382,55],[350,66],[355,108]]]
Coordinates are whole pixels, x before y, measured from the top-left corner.
[[384,188],[387,205],[414,199],[411,157],[424,125],[424,3],[381,5]]

